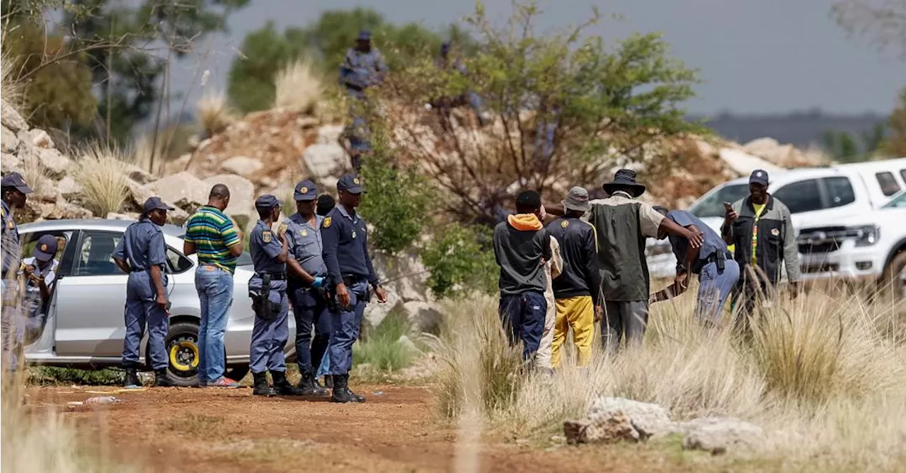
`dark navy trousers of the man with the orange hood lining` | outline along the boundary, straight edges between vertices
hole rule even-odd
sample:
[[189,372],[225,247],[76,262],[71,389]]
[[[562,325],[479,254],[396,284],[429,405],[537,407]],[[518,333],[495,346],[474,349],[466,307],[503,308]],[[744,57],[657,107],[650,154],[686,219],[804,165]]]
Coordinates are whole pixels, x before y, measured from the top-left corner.
[[501,295],[499,306],[500,321],[504,325],[510,345],[522,342],[522,357],[535,357],[541,336],[545,332],[547,300],[543,292],[524,292],[515,295]]

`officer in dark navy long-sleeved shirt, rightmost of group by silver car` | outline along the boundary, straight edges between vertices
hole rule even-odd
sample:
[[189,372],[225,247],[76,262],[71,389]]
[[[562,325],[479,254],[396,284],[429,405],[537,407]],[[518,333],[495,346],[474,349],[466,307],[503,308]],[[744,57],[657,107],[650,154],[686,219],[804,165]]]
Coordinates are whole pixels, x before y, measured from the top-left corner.
[[321,223],[323,258],[332,287],[330,374],[333,377],[333,402],[365,402],[349,390],[352,369],[352,344],[359,337],[365,304],[374,288],[378,301],[387,302],[387,293],[368,254],[365,221],[356,213],[365,192],[358,177],[343,175],[337,183],[340,202]]

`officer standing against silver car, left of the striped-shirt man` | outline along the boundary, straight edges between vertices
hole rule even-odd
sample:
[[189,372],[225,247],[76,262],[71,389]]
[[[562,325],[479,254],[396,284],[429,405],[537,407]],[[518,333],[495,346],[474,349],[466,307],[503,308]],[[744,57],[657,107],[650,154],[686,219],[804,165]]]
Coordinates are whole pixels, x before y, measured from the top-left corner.
[[167,245],[160,227],[167,222],[167,212],[173,210],[160,197],[149,197],[139,222],[132,223],[123,233],[113,260],[120,270],[129,274],[126,284],[126,336],[122,341],[122,366],[126,370],[123,386],[140,387],[136,371],[139,368],[141,337],[148,326],[148,345],[154,385],[171,386],[167,377],[167,345],[169,331],[169,297],[167,293]]

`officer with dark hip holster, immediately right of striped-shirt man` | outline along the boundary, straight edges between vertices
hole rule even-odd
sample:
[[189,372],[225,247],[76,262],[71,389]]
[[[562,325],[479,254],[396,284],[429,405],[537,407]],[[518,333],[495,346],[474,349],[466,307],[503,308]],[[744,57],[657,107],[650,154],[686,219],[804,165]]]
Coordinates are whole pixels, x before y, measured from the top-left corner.
[[[284,346],[289,339],[289,302],[286,299],[286,261],[289,245],[283,232],[272,230],[280,218],[280,201],[265,194],[255,200],[258,222],[252,230],[248,251],[255,265],[255,275],[248,281],[248,293],[255,310],[252,328],[250,366],[255,377],[253,394],[259,396],[298,395],[286,380]],[[271,372],[274,388],[267,384],[266,372]]]

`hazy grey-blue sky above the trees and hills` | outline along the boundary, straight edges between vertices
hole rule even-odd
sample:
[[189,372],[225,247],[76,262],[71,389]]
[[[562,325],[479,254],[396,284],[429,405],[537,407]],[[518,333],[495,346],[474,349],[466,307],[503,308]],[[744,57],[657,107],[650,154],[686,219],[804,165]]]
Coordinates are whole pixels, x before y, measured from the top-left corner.
[[[487,0],[501,23],[509,0]],[[830,16],[831,0],[542,0],[539,26],[578,24],[597,6],[621,21],[595,25],[607,41],[633,31],[661,32],[673,56],[699,69],[704,83],[689,111],[716,114],[774,113],[820,108],[835,113],[887,113],[906,86],[906,62],[852,38]],[[233,14],[230,32],[198,45],[198,53],[174,71],[174,87],[198,95],[203,71],[207,88],[226,87],[230,61],[246,33],[267,20],[283,28],[314,21],[327,9],[370,6],[388,19],[434,27],[474,9],[471,0],[252,0]]]

